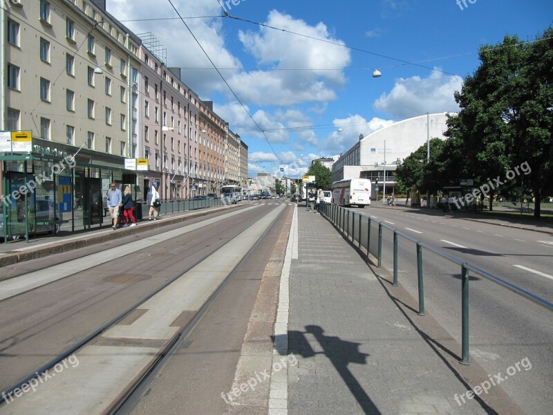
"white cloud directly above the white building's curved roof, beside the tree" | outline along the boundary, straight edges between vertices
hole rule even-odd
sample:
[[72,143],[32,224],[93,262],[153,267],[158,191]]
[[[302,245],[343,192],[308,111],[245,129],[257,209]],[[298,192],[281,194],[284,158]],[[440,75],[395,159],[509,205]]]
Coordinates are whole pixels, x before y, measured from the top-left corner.
[[419,76],[396,80],[390,93],[383,93],[374,107],[391,118],[410,118],[431,112],[458,112],[453,92],[460,91],[462,77],[432,71],[429,77]]

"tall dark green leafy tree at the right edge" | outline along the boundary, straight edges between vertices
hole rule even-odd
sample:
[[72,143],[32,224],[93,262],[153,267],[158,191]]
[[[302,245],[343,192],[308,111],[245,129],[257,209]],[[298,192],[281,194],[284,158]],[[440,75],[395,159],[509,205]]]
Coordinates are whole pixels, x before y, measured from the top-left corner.
[[448,120],[449,140],[437,159],[442,182],[474,178],[478,187],[499,177],[495,192],[507,194],[522,178],[504,181],[506,172],[528,163],[532,172],[523,179],[540,216],[541,196],[553,189],[552,38],[550,27],[535,42],[506,36],[480,48],[480,66],[455,94],[460,112]]

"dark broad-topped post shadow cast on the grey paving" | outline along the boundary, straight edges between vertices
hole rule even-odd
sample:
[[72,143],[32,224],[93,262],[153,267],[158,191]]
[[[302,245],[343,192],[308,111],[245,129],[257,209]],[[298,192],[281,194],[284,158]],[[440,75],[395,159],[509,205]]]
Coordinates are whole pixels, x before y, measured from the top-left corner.
[[[319,343],[322,352],[315,352],[309,344],[306,334],[310,333],[315,337],[315,340]],[[325,335],[324,330],[320,326],[309,325],[306,326],[306,331],[288,331],[288,340],[290,342],[290,349],[288,352],[297,353],[302,358],[312,358],[316,354],[324,353],[324,355],[330,360],[332,366],[350,389],[351,394],[362,407],[365,414],[381,414],[377,409],[373,400],[364,391],[362,385],[359,384],[355,376],[348,369],[349,363],[357,363],[359,365],[366,365],[366,358],[370,355],[367,353],[359,352],[359,344],[355,342],[348,342],[341,340],[337,336]]]

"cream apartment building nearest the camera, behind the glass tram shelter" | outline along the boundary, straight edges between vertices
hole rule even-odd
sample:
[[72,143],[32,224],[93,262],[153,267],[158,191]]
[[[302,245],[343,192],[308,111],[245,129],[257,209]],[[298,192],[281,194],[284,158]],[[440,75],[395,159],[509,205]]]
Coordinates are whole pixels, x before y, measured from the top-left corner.
[[[132,112],[140,39],[83,0],[10,1],[0,20],[1,129],[30,131],[28,149],[0,154],[2,194],[32,182],[23,216],[32,216],[35,199],[48,199],[68,230],[99,225],[109,183],[123,183],[124,159],[140,145]],[[70,159],[73,168],[59,167]],[[21,222],[25,198],[15,196],[4,198],[6,223]]]

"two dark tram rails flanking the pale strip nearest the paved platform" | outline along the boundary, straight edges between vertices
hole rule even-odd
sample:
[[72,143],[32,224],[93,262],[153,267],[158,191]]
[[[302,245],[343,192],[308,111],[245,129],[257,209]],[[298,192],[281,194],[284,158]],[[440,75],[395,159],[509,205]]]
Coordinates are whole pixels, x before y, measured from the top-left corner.
[[[248,228],[251,228],[253,225],[261,221],[261,219],[263,219],[264,217],[265,217],[265,212],[260,212],[260,217],[256,217],[254,221],[251,221],[246,226],[243,226],[243,228],[241,228],[240,231],[236,231],[235,234],[238,235],[238,234],[241,234],[242,232],[245,232],[245,230],[247,230]],[[167,356],[174,347],[176,347],[178,344],[180,344],[180,342],[182,342],[182,340],[186,337],[187,333],[189,333],[189,331],[191,331],[194,328],[195,324],[200,320],[203,313],[207,311],[207,309],[209,308],[209,305],[212,304],[212,302],[214,302],[216,297],[218,297],[218,295],[224,290],[226,284],[230,281],[230,279],[232,279],[232,275],[234,275],[236,270],[241,266],[243,260],[247,257],[247,255],[250,255],[252,250],[254,250],[254,248],[261,241],[261,239],[263,239],[266,232],[268,232],[268,230],[276,220],[277,219],[274,219],[272,221],[272,223],[268,226],[268,229],[265,230],[265,232],[263,232],[263,234],[261,235],[261,237],[259,237],[259,239],[256,241],[254,246],[252,246],[252,248],[250,248],[250,250],[247,252],[246,256],[243,257],[243,259],[241,259],[241,261],[236,265],[236,267],[234,267],[232,272],[229,273],[229,275],[227,275],[223,283],[216,289],[214,293],[212,293],[212,295],[209,297],[209,299],[207,299],[205,304],[203,304],[203,306],[198,310],[198,312],[193,317],[191,317],[191,320],[189,320],[189,322],[185,326],[182,326],[178,331],[178,333],[175,333],[175,335],[165,344],[162,351],[158,353],[157,358],[151,362],[151,365],[149,365],[149,367],[144,368],[141,375],[138,376],[138,378],[135,378],[135,380],[131,383],[131,385],[129,385],[129,387],[126,388],[126,391],[122,393],[121,397],[113,405],[111,405],[111,409],[109,409],[108,413],[117,412],[118,409],[120,409],[120,407],[122,407],[122,405],[124,405],[124,403],[129,399],[129,397],[132,396],[133,392],[136,391],[138,387],[140,387],[140,385],[142,385],[144,380],[147,380],[147,378],[152,373],[152,371],[154,371],[155,368],[158,367],[158,365],[160,365],[163,362],[165,356]],[[218,234],[216,236],[221,236],[221,235]],[[113,317],[105,324],[102,324],[102,326],[100,326],[99,328],[95,329],[93,332],[86,335],[84,338],[79,340],[79,342],[77,342],[73,346],[68,347],[67,349],[64,349],[62,353],[59,353],[59,355],[55,356],[51,360],[48,360],[46,364],[42,365],[38,369],[33,370],[31,374],[28,374],[27,376],[25,376],[24,378],[16,382],[15,385],[12,385],[11,387],[7,388],[5,393],[6,396],[9,396],[10,394],[14,393],[14,391],[17,391],[17,389],[21,389],[21,387],[24,387],[24,385],[28,385],[28,382],[30,382],[30,380],[32,380],[33,378],[37,378],[37,375],[42,374],[45,371],[48,371],[48,369],[53,368],[56,364],[68,358],[68,356],[72,356],[75,352],[79,351],[79,349],[82,349],[88,344],[93,344],[95,340],[102,335],[102,333],[106,333],[106,331],[108,331],[110,328],[113,328],[113,326],[116,326],[118,322],[124,320],[125,317],[131,315],[131,313],[133,313],[133,311],[136,311],[138,308],[140,308],[142,304],[144,304],[149,299],[153,298],[156,294],[160,293],[165,288],[167,288],[168,286],[176,282],[183,275],[187,274],[191,269],[193,269],[194,267],[198,266],[198,264],[201,264],[203,261],[205,261],[208,257],[210,257],[211,255],[214,255],[215,252],[217,252],[218,250],[221,250],[221,248],[226,246],[227,243],[229,243],[230,241],[232,241],[232,239],[225,241],[225,243],[222,243],[221,245],[217,245],[212,250],[208,250],[208,252],[205,252],[200,257],[194,258],[194,260],[187,266],[187,268],[182,270],[182,272],[176,274],[174,277],[167,280],[167,282],[161,284],[156,289],[149,292],[147,295],[144,295],[144,297],[140,298],[138,301],[131,304],[131,306],[126,308],[124,311],[122,311],[122,313],[119,313],[118,315]],[[195,255],[198,255],[198,250],[194,252],[190,252],[187,255],[187,259],[194,257]],[[172,260],[168,265],[178,264],[178,261],[182,261],[182,257]],[[0,412],[1,412],[1,409],[0,409]]]

